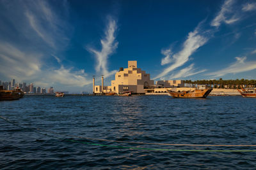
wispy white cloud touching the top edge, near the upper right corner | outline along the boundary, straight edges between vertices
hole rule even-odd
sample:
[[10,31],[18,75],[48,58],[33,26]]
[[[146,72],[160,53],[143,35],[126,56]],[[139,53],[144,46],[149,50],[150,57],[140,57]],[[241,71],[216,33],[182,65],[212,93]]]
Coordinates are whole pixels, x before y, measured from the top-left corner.
[[234,0],[225,1],[225,3],[221,6],[221,10],[219,11],[218,15],[214,18],[214,20],[212,20],[212,26],[219,27],[221,22],[232,24],[240,19],[236,14],[234,14],[232,4],[234,4]]

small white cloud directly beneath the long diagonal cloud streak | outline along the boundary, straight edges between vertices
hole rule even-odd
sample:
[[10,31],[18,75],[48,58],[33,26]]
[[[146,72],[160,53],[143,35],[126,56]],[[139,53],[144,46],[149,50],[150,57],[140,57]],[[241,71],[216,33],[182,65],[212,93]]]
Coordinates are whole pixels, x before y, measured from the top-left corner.
[[194,68],[194,64],[191,64],[190,66],[184,68],[184,69],[181,69],[179,71],[179,73],[177,74],[172,74],[170,76],[170,79],[174,79],[174,78],[184,78],[184,77],[188,77],[188,76],[193,76],[195,74],[199,74],[199,73],[203,73],[205,72],[206,69],[203,69],[201,71],[196,71],[196,69]]

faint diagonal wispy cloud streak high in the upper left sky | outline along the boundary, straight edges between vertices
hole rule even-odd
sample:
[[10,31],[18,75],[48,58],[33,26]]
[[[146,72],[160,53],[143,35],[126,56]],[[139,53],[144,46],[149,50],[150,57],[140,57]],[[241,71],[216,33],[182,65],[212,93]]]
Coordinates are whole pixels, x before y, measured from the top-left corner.
[[47,45],[54,50],[61,50],[60,48],[67,46],[68,32],[72,32],[71,26],[61,20],[46,1],[33,1],[24,5],[24,13],[31,29]]

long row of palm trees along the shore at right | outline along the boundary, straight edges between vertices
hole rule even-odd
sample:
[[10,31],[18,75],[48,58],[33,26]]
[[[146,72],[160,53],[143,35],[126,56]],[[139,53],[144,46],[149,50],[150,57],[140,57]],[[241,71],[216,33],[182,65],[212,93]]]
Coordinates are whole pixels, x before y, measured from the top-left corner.
[[186,86],[188,87],[197,87],[197,85],[207,85],[212,88],[222,88],[222,89],[241,89],[248,87],[256,87],[256,80],[223,80],[220,78],[219,80],[185,80]]

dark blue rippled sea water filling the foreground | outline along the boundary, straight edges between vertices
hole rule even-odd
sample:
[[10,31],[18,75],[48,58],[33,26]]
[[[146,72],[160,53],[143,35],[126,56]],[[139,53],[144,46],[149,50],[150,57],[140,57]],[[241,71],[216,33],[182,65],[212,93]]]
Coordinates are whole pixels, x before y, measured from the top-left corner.
[[0,115],[16,123],[0,119],[0,169],[256,168],[256,152],[157,150],[256,147],[149,144],[256,145],[256,99],[25,96]]

